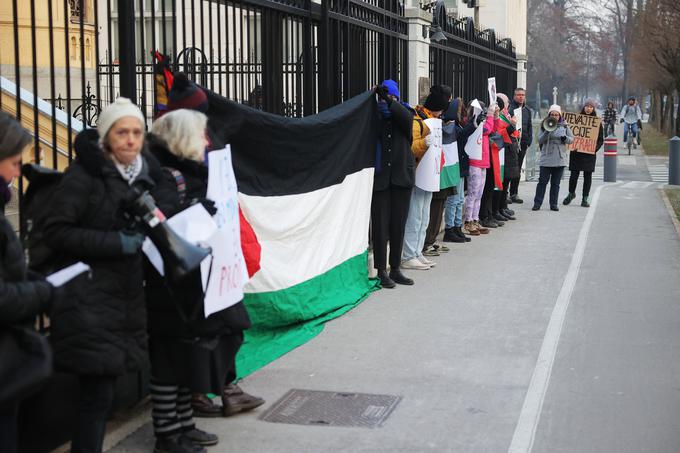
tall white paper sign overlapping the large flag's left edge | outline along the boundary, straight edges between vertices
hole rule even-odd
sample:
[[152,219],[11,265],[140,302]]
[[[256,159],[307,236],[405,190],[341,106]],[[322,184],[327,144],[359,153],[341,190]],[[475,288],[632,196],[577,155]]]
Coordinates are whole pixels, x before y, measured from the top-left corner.
[[[205,316],[224,310],[243,299],[248,269],[241,250],[238,190],[231,164],[231,147],[208,153],[208,198],[215,202],[217,231],[207,241],[213,250],[212,263],[203,262]],[[208,275],[210,278],[208,279]]]

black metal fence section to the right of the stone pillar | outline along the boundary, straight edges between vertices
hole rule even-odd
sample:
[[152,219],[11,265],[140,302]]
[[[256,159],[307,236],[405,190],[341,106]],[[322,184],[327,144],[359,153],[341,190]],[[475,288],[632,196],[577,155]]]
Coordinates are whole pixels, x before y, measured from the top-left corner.
[[486,100],[487,79],[496,77],[498,92],[508,96],[517,88],[517,58],[510,39],[499,39],[493,29],[477,30],[470,17],[456,19],[445,8],[435,10],[446,41],[430,44],[430,80],[453,87],[466,101]]

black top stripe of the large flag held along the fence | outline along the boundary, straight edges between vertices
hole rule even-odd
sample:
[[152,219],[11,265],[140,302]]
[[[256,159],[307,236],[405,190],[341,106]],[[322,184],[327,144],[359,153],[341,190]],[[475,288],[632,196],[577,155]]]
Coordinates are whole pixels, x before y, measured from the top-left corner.
[[305,118],[262,112],[206,93],[208,125],[231,144],[239,192],[307,193],[374,166],[381,121],[372,91]]

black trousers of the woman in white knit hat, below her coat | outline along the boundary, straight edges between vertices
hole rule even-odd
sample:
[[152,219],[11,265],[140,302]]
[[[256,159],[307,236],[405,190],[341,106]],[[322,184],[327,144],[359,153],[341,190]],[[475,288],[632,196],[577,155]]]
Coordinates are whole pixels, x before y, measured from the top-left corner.
[[116,390],[115,376],[79,376],[78,419],[71,453],[101,453]]

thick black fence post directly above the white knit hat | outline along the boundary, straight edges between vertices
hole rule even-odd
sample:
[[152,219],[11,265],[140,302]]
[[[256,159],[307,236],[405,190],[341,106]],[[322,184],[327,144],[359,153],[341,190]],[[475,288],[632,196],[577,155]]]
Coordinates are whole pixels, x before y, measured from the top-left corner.
[[120,95],[137,103],[134,0],[118,0]]

